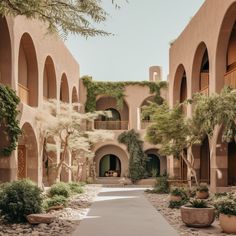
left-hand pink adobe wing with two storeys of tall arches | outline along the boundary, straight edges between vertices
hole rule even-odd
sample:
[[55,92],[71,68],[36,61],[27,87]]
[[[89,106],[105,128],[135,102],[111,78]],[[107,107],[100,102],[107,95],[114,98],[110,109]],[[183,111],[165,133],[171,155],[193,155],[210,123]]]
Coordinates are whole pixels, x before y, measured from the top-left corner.
[[17,150],[0,158],[0,181],[30,178],[41,186],[43,137],[35,115],[44,99],[78,102],[79,64],[64,43],[39,22],[0,18],[0,32],[0,83],[12,87],[20,97],[23,132]]

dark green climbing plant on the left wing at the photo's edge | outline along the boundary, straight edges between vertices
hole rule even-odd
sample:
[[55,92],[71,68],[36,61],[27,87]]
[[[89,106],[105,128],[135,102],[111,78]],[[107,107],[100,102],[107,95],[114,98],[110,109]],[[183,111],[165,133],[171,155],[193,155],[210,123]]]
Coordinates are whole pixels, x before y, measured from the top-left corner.
[[[6,135],[7,142],[9,142],[8,146],[0,148],[0,156],[10,156],[16,149],[18,137],[21,134],[17,119],[19,102],[20,99],[15,91],[0,84],[0,130]],[[2,134],[1,137],[3,137]]]

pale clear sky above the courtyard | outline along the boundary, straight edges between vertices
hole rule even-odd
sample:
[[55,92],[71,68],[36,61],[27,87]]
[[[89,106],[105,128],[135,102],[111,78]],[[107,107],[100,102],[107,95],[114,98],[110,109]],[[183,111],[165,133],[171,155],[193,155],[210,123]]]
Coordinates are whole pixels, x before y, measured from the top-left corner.
[[[124,0],[125,1],[125,0]],[[66,45],[80,64],[81,76],[94,80],[147,80],[148,68],[168,74],[169,43],[178,37],[204,0],[129,0],[120,10],[104,0],[110,13],[101,28],[114,36],[70,36]]]

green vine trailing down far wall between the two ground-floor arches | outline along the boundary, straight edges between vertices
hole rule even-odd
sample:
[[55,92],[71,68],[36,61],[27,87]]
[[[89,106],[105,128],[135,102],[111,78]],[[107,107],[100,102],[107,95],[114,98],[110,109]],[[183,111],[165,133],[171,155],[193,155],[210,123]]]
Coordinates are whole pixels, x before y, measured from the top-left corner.
[[143,141],[135,130],[129,130],[118,136],[118,141],[127,146],[129,152],[129,177],[132,182],[147,177],[147,155],[143,151]]

